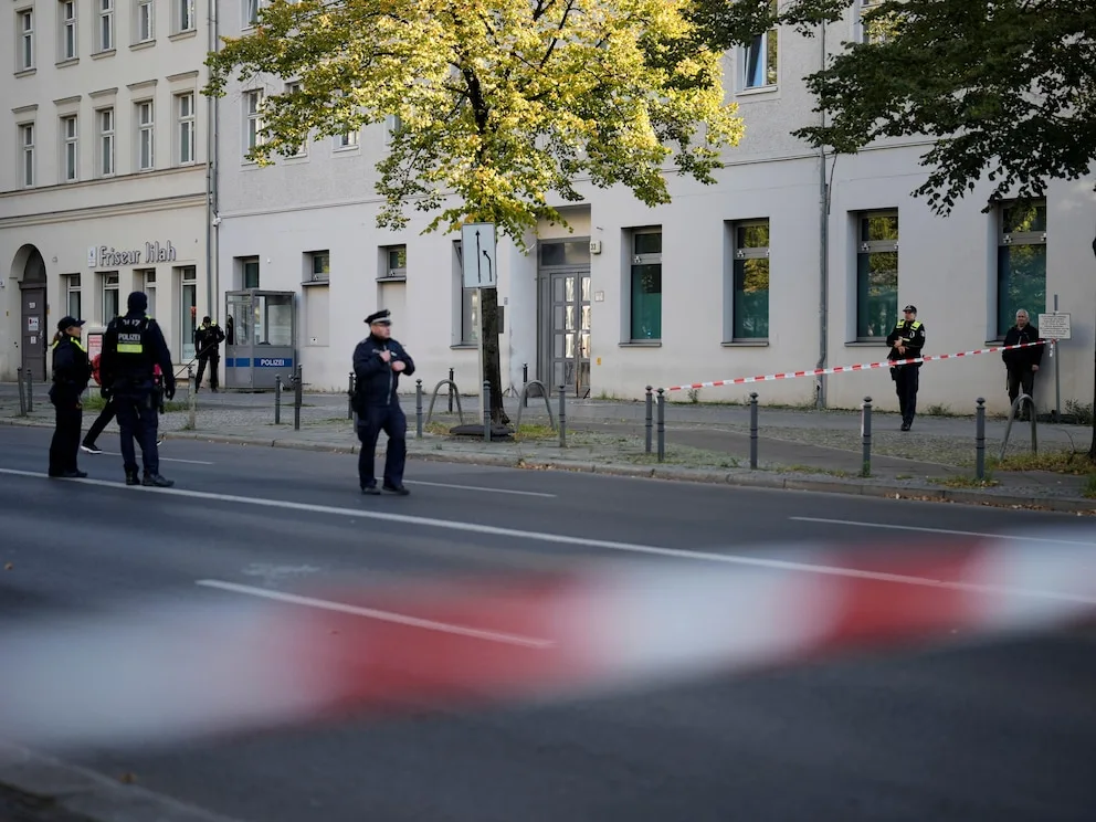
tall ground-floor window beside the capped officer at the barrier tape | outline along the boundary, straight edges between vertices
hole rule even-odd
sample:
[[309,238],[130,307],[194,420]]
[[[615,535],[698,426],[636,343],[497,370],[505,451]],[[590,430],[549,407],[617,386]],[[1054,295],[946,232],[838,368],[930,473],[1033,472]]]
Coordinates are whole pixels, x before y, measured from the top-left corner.
[[898,322],[898,212],[861,214],[856,253],[856,338],[886,337]]

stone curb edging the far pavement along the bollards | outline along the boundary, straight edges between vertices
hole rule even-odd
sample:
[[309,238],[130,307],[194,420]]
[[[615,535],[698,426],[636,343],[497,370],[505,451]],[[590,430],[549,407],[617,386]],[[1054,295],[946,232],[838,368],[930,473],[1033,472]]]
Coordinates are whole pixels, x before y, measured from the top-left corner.
[[[3,425],[22,425],[29,428],[53,428],[53,423],[33,420],[0,419]],[[329,443],[302,442],[299,440],[280,440],[276,438],[259,439],[234,434],[204,434],[188,431],[167,431],[166,440],[193,440],[214,442],[229,445],[257,445],[260,447],[291,449],[294,451],[312,451],[331,454],[357,454],[356,445],[331,445]],[[410,440],[413,442],[414,440]],[[724,471],[704,468],[683,468],[673,466],[640,467],[633,465],[612,465],[589,463],[581,460],[537,460],[525,456],[504,456],[500,454],[476,454],[466,452],[408,451],[409,460],[423,462],[445,462],[463,465],[487,465],[504,468],[525,468],[530,471],[570,471],[607,476],[629,476],[644,479],[670,479],[676,482],[704,483],[709,485],[733,485],[741,488],[770,488],[783,491],[805,491],[822,494],[843,494],[846,496],[866,496],[887,499],[914,499],[918,502],[952,503],[960,505],[982,505],[999,508],[1022,508],[1026,510],[1045,510],[1063,514],[1096,515],[1096,500],[1087,502],[1076,498],[1013,496],[1009,494],[987,494],[968,488],[919,488],[908,485],[887,485],[871,481],[839,482],[834,479],[810,479],[807,477],[784,477],[767,474],[728,474]]]

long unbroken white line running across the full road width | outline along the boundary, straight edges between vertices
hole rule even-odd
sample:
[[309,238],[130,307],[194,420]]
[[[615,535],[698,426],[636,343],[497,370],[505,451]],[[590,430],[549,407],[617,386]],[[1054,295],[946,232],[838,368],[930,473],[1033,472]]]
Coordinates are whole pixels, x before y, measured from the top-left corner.
[[[17,468],[0,468],[0,474],[11,476],[29,476],[41,479],[49,479],[49,475],[35,471],[19,471]],[[736,554],[710,554],[707,551],[694,551],[686,548],[660,548],[651,545],[636,545],[633,542],[616,542],[609,539],[593,539],[590,537],[575,537],[566,534],[550,534],[548,531],[527,531],[517,528],[505,528],[497,525],[483,525],[481,523],[461,523],[453,519],[434,519],[433,517],[420,517],[412,514],[390,514],[369,508],[338,508],[334,505],[315,505],[313,503],[295,503],[289,499],[264,499],[262,497],[234,496],[231,494],[211,494],[204,491],[191,491],[190,488],[154,488],[143,485],[127,487],[123,483],[107,479],[52,479],[51,482],[82,483],[84,485],[98,485],[105,488],[120,488],[126,493],[164,494],[166,496],[177,496],[189,499],[205,499],[218,503],[234,503],[236,505],[254,505],[261,508],[274,508],[278,510],[298,510],[308,514],[330,514],[333,516],[348,517],[351,519],[375,519],[386,523],[400,523],[423,528],[441,528],[443,530],[462,531],[465,534],[482,534],[493,537],[510,537],[514,539],[528,539],[539,542],[551,542],[555,545],[579,546],[582,548],[598,548],[607,551],[618,551],[621,554],[635,554],[652,557],[670,557],[673,559],[691,559],[703,562],[715,562],[719,565],[737,565],[751,568],[767,568],[780,571],[797,571],[800,573],[816,573],[829,577],[847,577],[853,579],[872,579],[882,582],[899,582],[910,586],[924,586],[928,588],[942,588],[950,590],[971,591],[974,593],[993,593],[1013,597],[1033,597],[1037,599],[1053,599],[1066,602],[1081,602],[1084,604],[1096,604],[1096,598],[1084,597],[1062,591],[1043,591],[1026,588],[1009,588],[1003,586],[983,586],[971,582],[955,582],[950,580],[929,579],[926,577],[913,577],[898,573],[881,573],[878,571],[865,571],[857,568],[843,568],[839,566],[815,565],[811,562],[799,562],[794,560],[771,559],[765,557],[747,557]],[[995,535],[989,535],[995,536]],[[1029,538],[1031,541],[1046,541],[1037,538]],[[1088,546],[1090,542],[1071,542],[1073,545]]]

